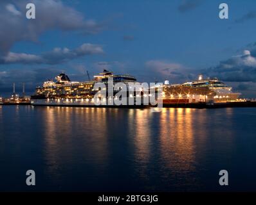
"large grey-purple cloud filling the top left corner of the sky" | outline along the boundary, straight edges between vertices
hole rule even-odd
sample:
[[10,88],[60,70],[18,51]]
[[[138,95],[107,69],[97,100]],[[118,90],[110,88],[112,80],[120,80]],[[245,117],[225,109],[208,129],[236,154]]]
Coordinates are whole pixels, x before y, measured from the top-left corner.
[[[33,20],[26,19],[27,3],[35,4],[36,18]],[[106,28],[105,22],[85,19],[83,13],[66,6],[60,0],[1,0],[0,20],[2,55],[8,53],[15,42],[37,42],[39,36],[50,29],[77,31],[88,35],[99,33]]]

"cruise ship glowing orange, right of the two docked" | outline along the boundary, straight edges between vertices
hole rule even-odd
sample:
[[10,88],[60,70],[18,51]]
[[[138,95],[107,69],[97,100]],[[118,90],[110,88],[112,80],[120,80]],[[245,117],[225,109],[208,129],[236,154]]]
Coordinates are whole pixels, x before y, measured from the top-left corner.
[[240,93],[232,92],[232,87],[217,78],[204,79],[202,75],[196,81],[183,84],[163,85],[163,103],[189,102],[232,102],[237,101]]

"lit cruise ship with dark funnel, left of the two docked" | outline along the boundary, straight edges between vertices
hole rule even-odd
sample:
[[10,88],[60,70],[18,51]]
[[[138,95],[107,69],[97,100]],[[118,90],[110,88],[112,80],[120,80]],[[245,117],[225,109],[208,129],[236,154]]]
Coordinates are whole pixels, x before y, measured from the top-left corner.
[[[124,83],[128,86],[128,83],[137,83],[133,76],[127,74],[115,75],[105,69],[102,73],[94,76],[93,80],[84,82],[71,81],[66,74],[61,73],[55,78],[55,81],[45,81],[42,86],[36,88],[35,94],[31,96],[31,104],[35,106],[95,106],[94,96],[98,90],[94,90],[94,85],[99,82],[104,83],[107,89],[109,78],[113,79],[113,85]],[[113,96],[117,92],[114,91]],[[105,96],[97,100],[105,101],[105,105],[108,105],[108,97]],[[134,97],[134,101],[136,100],[138,99]],[[113,103],[109,104],[114,105]],[[134,102],[134,104],[136,103]]]

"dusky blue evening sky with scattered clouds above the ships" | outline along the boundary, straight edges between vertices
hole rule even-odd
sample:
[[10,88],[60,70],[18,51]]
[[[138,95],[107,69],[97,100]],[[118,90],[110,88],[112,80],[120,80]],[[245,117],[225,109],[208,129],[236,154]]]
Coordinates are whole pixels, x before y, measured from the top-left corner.
[[106,68],[140,82],[203,74],[256,97],[255,22],[253,0],[1,0],[0,95],[14,82],[33,92],[60,72],[86,81],[86,70]]

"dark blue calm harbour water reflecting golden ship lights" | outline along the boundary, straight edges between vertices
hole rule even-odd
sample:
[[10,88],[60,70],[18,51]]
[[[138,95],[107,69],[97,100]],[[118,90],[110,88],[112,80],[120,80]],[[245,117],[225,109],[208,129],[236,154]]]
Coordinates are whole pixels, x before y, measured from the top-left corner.
[[[0,191],[255,191],[256,108],[1,106]],[[26,186],[26,170],[36,186]],[[229,186],[219,186],[219,170]]]

